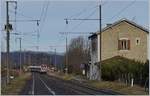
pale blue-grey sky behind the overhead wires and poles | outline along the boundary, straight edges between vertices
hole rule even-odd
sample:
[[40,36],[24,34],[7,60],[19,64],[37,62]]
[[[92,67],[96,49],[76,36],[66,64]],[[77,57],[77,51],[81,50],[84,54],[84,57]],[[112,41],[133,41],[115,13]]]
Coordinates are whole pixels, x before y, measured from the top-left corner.
[[[40,19],[40,26],[37,22],[11,22],[14,31],[21,32],[28,35],[22,36],[23,50],[36,50],[35,47],[39,45],[41,51],[52,51],[49,46],[62,46],[56,47],[58,52],[65,51],[65,35],[59,32],[96,32],[99,29],[99,21],[69,21],[65,24],[65,18],[99,18],[99,1],[21,1],[17,2],[17,20],[37,20]],[[44,8],[43,8],[44,6]],[[3,26],[6,23],[5,16],[5,2],[1,3],[2,22]],[[47,7],[47,10],[46,10]],[[42,11],[43,10],[43,11]],[[42,15],[41,15],[42,14]],[[15,19],[15,4],[9,6],[10,20]],[[45,20],[44,20],[45,18]],[[103,0],[102,1],[102,26],[105,27],[107,23],[113,23],[121,18],[133,20],[139,25],[144,27],[148,26],[148,0]],[[81,23],[82,22],[82,23]],[[81,23],[81,24],[80,24]],[[16,26],[16,27],[15,27]],[[16,29],[16,30],[15,30]],[[40,30],[39,44],[37,44],[37,31]],[[5,49],[5,36],[2,31],[2,50]],[[68,35],[68,41],[79,35]],[[87,35],[83,35],[87,37]],[[19,42],[15,42],[15,38],[19,36],[11,35],[11,51],[19,49]]]

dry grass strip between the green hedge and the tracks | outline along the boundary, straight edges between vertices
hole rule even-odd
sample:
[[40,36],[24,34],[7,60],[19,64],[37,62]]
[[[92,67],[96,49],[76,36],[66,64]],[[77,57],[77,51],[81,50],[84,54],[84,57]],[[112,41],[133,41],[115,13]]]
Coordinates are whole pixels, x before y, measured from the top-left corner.
[[88,81],[88,85],[99,89],[110,89],[126,95],[148,95],[148,93],[144,91],[144,88],[137,85],[130,87],[123,83],[109,81]]

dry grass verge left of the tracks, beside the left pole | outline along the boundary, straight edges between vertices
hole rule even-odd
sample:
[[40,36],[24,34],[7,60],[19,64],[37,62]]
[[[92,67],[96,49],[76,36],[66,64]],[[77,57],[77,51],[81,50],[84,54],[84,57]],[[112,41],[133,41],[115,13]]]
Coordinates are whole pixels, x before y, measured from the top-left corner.
[[2,95],[17,95],[25,85],[26,80],[30,78],[30,73],[22,74],[21,76],[15,78],[11,81],[10,85],[2,88]]

